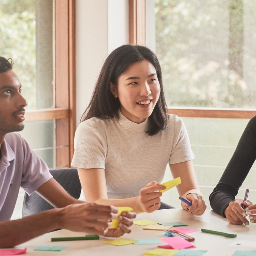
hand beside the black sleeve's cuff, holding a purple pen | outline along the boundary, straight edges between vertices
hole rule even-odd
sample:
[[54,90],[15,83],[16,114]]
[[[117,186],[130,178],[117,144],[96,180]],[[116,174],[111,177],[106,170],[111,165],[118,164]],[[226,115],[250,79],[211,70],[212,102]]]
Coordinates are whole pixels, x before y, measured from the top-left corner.
[[235,225],[241,225],[244,223],[245,225],[249,225],[248,220],[245,218],[246,211],[242,208],[242,206],[248,207],[252,205],[252,202],[249,200],[236,199],[233,202],[229,203],[229,206],[225,210],[226,218],[229,222]]

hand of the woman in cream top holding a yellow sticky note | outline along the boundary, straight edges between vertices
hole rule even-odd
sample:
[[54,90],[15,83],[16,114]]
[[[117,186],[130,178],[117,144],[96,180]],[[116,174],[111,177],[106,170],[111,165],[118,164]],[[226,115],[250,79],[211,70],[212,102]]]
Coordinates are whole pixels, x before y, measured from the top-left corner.
[[140,189],[139,204],[142,211],[153,212],[160,208],[160,197],[162,193],[159,190],[166,189],[157,181],[151,181],[146,187]]

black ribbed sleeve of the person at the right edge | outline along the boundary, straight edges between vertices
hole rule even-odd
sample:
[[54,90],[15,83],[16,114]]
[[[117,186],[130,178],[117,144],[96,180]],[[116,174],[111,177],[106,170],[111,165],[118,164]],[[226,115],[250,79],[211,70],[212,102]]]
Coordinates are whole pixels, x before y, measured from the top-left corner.
[[256,116],[247,124],[221,179],[210,195],[212,210],[223,215],[244,182],[256,158]]

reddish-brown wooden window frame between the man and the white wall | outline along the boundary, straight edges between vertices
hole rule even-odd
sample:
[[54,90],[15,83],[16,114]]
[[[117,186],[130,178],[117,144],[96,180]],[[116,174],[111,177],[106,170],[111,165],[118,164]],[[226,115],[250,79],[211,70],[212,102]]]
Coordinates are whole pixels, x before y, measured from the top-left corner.
[[55,0],[55,108],[28,110],[26,121],[56,120],[56,168],[70,167],[74,154],[75,0]]

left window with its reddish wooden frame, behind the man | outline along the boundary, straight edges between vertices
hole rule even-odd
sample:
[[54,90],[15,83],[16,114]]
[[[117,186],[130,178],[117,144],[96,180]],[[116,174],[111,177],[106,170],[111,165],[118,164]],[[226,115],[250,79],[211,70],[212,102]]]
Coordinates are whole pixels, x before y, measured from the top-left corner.
[[50,168],[68,167],[75,131],[74,0],[0,2],[0,53],[28,101],[22,136]]

